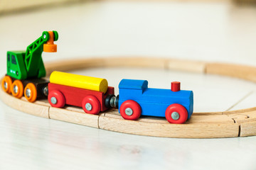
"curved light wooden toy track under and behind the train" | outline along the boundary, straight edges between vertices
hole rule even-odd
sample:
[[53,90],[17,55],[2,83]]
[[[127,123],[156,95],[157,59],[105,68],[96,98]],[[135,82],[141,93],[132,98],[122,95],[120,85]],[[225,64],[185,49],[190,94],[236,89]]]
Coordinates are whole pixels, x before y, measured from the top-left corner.
[[[46,64],[46,72],[49,75],[54,70],[70,71],[89,67],[154,67],[202,74],[220,74],[256,82],[255,67],[146,57],[96,58],[50,62]],[[0,90],[0,97],[6,105],[31,115],[134,135],[183,138],[256,135],[256,107],[228,112],[193,113],[188,122],[176,125],[168,123],[164,118],[143,117],[137,121],[124,120],[117,109],[100,113],[100,115],[90,115],[84,113],[82,108],[72,106],[53,108],[48,104],[47,100],[29,103],[24,97],[21,99],[14,98],[6,94],[2,89]]]

